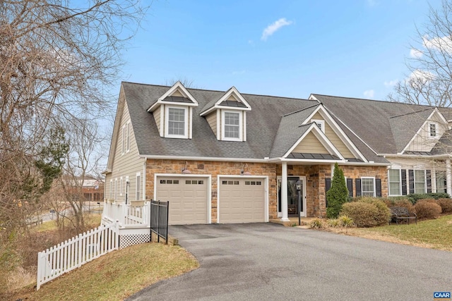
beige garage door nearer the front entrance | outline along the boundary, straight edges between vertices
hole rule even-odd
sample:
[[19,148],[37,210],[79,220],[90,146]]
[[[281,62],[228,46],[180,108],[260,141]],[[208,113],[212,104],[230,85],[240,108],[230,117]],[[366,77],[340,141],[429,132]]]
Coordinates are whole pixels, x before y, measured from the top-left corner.
[[256,223],[265,219],[265,183],[256,178],[220,178],[220,223]]

